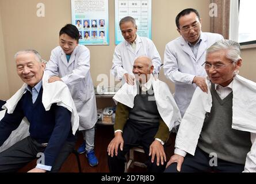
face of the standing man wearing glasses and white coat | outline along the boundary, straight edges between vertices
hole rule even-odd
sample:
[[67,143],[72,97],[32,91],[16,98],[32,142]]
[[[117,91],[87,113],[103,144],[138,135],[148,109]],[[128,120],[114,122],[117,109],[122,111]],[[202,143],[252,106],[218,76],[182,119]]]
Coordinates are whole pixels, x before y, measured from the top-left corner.
[[[191,12],[190,14],[179,18],[179,29],[177,30],[186,41],[189,41],[191,44],[195,44],[200,37],[201,21],[201,18],[198,20],[196,13]],[[189,31],[183,31],[188,28],[190,28]]]

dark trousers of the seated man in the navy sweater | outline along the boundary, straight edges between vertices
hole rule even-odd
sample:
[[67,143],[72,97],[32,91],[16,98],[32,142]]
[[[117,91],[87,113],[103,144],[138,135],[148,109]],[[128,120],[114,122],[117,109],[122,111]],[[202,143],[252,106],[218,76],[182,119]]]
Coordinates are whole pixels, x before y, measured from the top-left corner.
[[[68,155],[74,150],[75,141],[66,141],[57,156],[50,172],[58,172],[60,167],[67,159]],[[37,143],[36,140],[28,136],[12,147],[0,153],[0,172],[16,172],[24,167],[33,159],[37,158],[37,154],[43,153],[46,147]]]

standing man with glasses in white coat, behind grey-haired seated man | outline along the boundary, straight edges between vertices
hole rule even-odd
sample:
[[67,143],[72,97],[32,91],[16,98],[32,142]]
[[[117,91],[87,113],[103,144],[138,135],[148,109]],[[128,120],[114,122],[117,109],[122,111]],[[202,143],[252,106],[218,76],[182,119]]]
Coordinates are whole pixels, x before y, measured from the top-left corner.
[[207,92],[206,73],[201,65],[207,48],[223,36],[201,32],[202,20],[195,9],[182,10],[175,21],[181,37],[166,45],[163,70],[166,78],[175,83],[174,99],[183,117],[196,87]]

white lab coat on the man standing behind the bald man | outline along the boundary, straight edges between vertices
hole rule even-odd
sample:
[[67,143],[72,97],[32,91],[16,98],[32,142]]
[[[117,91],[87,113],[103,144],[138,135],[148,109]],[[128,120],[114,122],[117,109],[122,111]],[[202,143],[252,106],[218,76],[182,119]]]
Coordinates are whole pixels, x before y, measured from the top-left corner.
[[136,49],[133,51],[132,46],[123,41],[114,49],[113,65],[111,72],[118,79],[122,79],[125,73],[132,75],[134,60],[139,56],[148,56],[154,65],[154,74],[158,74],[161,67],[161,57],[152,42],[146,37],[136,37]]

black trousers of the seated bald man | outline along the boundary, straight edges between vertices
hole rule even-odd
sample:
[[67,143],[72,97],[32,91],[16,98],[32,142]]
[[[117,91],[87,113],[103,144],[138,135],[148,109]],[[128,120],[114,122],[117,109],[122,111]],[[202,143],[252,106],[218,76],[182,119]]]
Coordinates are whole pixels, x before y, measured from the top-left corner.
[[[158,124],[143,124],[128,120],[123,130],[124,147],[123,151],[119,150],[117,156],[108,156],[109,170],[111,173],[124,173],[125,154],[136,146],[142,146],[145,154],[149,154],[150,145],[154,141],[154,136],[158,131]],[[159,173],[165,170],[166,163],[162,166],[156,165],[156,157],[154,163],[151,163],[151,156],[148,156],[147,170],[151,173]]]

